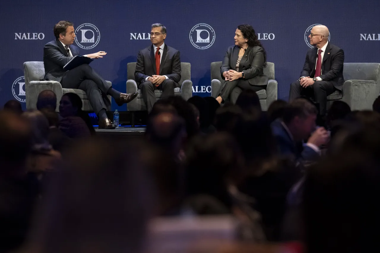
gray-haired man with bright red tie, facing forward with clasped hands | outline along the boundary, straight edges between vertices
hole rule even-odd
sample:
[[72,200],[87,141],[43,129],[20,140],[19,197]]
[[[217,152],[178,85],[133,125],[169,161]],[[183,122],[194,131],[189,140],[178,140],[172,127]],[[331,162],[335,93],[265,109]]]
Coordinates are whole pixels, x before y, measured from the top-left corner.
[[150,31],[152,45],[139,51],[135,80],[141,89],[148,112],[156,102],[154,90],[162,90],[161,98],[174,96],[174,88],[181,79],[179,51],[165,44],[166,27],[153,24]]

